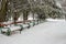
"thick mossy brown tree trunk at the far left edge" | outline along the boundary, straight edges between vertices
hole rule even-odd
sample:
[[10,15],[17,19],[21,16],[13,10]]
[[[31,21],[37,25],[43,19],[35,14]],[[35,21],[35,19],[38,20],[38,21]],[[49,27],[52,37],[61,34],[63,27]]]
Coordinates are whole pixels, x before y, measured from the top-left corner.
[[6,0],[2,0],[2,6],[1,6],[1,11],[0,11],[0,22],[3,22],[6,21],[6,16],[7,16],[7,1]]

